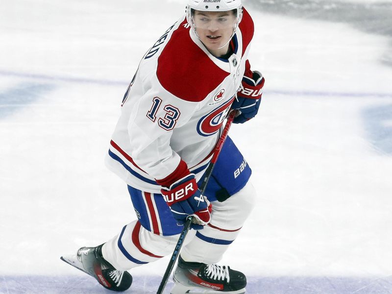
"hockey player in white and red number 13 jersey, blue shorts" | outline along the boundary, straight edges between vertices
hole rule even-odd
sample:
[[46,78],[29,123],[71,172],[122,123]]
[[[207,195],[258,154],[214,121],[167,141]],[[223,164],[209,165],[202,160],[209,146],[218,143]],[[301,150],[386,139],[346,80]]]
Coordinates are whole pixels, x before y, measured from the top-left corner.
[[169,255],[189,215],[172,294],[245,293],[245,275],[217,265],[254,204],[251,170],[227,137],[205,195],[200,179],[229,110],[245,123],[264,78],[247,60],[253,22],[241,0],[188,0],[186,15],[147,51],[121,104],[106,164],[128,185],[137,221],[97,247],[62,260],[124,291],[127,270]]

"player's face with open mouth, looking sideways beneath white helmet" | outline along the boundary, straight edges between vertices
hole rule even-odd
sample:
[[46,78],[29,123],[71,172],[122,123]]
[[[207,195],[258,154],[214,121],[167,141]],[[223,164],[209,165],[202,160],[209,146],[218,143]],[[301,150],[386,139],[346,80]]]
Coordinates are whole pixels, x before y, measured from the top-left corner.
[[221,56],[227,53],[228,42],[236,23],[236,15],[233,11],[196,10],[193,21],[198,37],[211,54]]

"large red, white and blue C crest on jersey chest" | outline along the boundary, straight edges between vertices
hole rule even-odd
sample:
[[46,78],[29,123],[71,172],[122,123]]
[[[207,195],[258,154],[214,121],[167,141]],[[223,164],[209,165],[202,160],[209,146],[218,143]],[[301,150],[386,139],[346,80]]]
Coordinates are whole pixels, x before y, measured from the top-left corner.
[[233,101],[234,97],[211,111],[209,114],[203,116],[197,123],[197,132],[199,135],[207,137],[218,132]]

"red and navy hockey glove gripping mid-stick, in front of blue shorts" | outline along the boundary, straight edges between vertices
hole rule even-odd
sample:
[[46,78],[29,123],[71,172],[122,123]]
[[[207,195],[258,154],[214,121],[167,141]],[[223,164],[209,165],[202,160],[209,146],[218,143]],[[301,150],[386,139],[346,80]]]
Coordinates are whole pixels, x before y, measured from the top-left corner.
[[161,193],[178,224],[183,225],[188,216],[194,217],[192,228],[199,230],[211,220],[211,203],[197,188],[195,174],[191,173],[162,187]]

